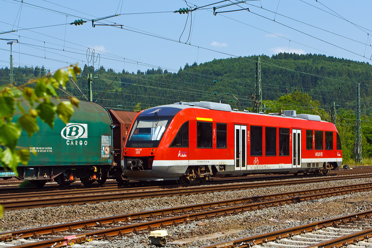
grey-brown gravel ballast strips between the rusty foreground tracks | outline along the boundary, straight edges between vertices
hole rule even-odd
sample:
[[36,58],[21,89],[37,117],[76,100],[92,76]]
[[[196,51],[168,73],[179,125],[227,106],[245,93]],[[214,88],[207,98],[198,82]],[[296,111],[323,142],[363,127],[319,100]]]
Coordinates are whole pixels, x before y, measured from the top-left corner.
[[[174,206],[213,202],[225,199],[273,194],[347,184],[371,182],[372,178],[337,180],[294,186],[267,187],[261,189],[215,192],[191,196],[163,197],[155,199],[125,200],[78,206],[45,207],[7,211],[0,219],[3,231],[28,229],[36,226],[53,225],[84,219],[100,218],[124,213],[148,211]],[[169,227],[168,241],[176,242],[167,247],[199,247],[214,242],[223,242],[243,236],[269,232],[290,226],[329,219],[336,216],[357,213],[371,209],[371,192],[333,196],[268,209],[248,211],[243,214],[225,216],[212,220],[190,222]],[[197,225],[199,223],[199,225]],[[132,234],[132,237],[118,238],[97,247],[154,247],[149,244],[148,234]],[[205,238],[201,238],[204,236]],[[186,244],[183,244],[187,242]]]

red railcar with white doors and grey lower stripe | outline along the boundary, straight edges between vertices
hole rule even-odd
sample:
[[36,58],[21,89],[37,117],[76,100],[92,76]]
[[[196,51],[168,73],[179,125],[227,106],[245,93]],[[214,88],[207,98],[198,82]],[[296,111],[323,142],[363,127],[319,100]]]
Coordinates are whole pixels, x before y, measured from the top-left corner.
[[128,180],[180,180],[248,174],[327,174],[342,164],[336,127],[315,115],[249,113],[211,102],[142,111],[125,140]]

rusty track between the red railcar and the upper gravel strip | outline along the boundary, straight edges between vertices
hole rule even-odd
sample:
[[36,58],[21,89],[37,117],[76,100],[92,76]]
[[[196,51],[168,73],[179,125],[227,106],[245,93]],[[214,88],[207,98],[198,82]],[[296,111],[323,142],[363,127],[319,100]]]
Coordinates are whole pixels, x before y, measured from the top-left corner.
[[347,180],[355,178],[368,178],[372,174],[362,175],[345,175],[337,177],[318,177],[305,178],[296,180],[284,181],[266,181],[255,183],[240,183],[240,184],[224,184],[224,185],[208,185],[197,187],[176,186],[169,189],[161,189],[160,187],[145,187],[135,189],[118,189],[118,188],[98,188],[87,190],[67,190],[57,192],[35,192],[35,193],[18,193],[18,194],[4,194],[1,196],[1,205],[4,210],[21,210],[32,209],[37,207],[47,206],[61,206],[70,204],[84,204],[84,203],[100,203],[107,201],[118,200],[132,200],[145,199],[155,197],[167,196],[182,196],[190,194],[213,193],[217,191],[234,191],[257,189],[262,187],[275,187],[284,185],[296,185],[305,183],[317,183],[333,180]]

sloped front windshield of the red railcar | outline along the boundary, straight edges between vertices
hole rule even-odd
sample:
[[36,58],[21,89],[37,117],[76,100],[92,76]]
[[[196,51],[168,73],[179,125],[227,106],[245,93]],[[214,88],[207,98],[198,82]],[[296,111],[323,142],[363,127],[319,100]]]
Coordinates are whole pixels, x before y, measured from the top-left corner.
[[179,111],[179,109],[169,107],[148,110],[142,112],[135,120],[129,133],[126,147],[157,147],[170,121]]

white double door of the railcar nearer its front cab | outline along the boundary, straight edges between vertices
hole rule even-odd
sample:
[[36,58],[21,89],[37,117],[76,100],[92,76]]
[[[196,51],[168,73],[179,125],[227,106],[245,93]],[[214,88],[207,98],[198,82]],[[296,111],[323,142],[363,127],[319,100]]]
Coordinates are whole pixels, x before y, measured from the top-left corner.
[[247,170],[247,126],[235,125],[235,171]]

